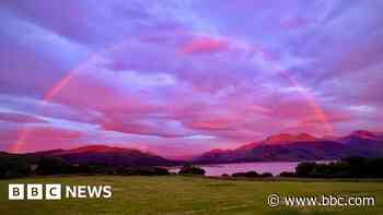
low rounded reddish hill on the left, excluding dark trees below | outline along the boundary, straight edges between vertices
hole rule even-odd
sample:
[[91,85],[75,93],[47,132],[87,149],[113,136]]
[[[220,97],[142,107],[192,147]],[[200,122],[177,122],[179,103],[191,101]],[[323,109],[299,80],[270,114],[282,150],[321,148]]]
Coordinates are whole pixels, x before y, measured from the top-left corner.
[[174,166],[179,162],[143,153],[139,150],[88,145],[72,150],[54,150],[28,154],[30,156],[58,157],[70,164],[103,164],[106,166]]

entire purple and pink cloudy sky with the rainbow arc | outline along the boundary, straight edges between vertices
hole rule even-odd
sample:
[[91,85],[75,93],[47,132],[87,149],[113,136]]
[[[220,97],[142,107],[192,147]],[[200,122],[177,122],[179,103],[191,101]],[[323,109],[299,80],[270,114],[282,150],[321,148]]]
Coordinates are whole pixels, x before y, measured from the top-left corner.
[[0,151],[383,131],[382,1],[59,4],[0,2]]

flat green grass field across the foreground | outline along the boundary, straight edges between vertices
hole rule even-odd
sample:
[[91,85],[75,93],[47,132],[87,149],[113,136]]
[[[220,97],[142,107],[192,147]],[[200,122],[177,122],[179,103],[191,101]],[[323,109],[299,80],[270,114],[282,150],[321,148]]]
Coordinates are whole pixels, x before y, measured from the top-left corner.
[[[111,184],[108,200],[9,201],[9,183]],[[97,214],[383,214],[383,182],[243,181],[197,177],[51,177],[0,181],[0,213],[4,215]],[[373,195],[369,207],[270,208],[267,195]]]

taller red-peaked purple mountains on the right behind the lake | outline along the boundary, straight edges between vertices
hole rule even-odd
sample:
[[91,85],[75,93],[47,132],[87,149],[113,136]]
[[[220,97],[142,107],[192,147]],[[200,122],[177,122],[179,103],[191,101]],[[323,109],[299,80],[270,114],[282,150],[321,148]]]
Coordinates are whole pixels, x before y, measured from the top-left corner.
[[307,133],[271,135],[235,150],[212,150],[194,159],[197,164],[240,162],[330,160],[348,156],[382,156],[383,135],[355,131],[343,138],[318,139]]

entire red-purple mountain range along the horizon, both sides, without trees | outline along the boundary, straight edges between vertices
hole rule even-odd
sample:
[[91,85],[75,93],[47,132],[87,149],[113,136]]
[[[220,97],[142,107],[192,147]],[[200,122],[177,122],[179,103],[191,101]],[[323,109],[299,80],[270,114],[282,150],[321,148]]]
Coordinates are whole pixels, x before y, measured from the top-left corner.
[[[57,157],[69,164],[103,164],[118,166],[177,166],[185,160],[172,160],[135,148],[88,145],[72,150],[53,150],[27,154],[1,153],[0,157]],[[355,131],[346,136],[315,138],[309,133],[281,133],[242,145],[234,150],[211,150],[187,160],[194,164],[244,162],[333,160],[349,156],[383,156],[383,133]]]

